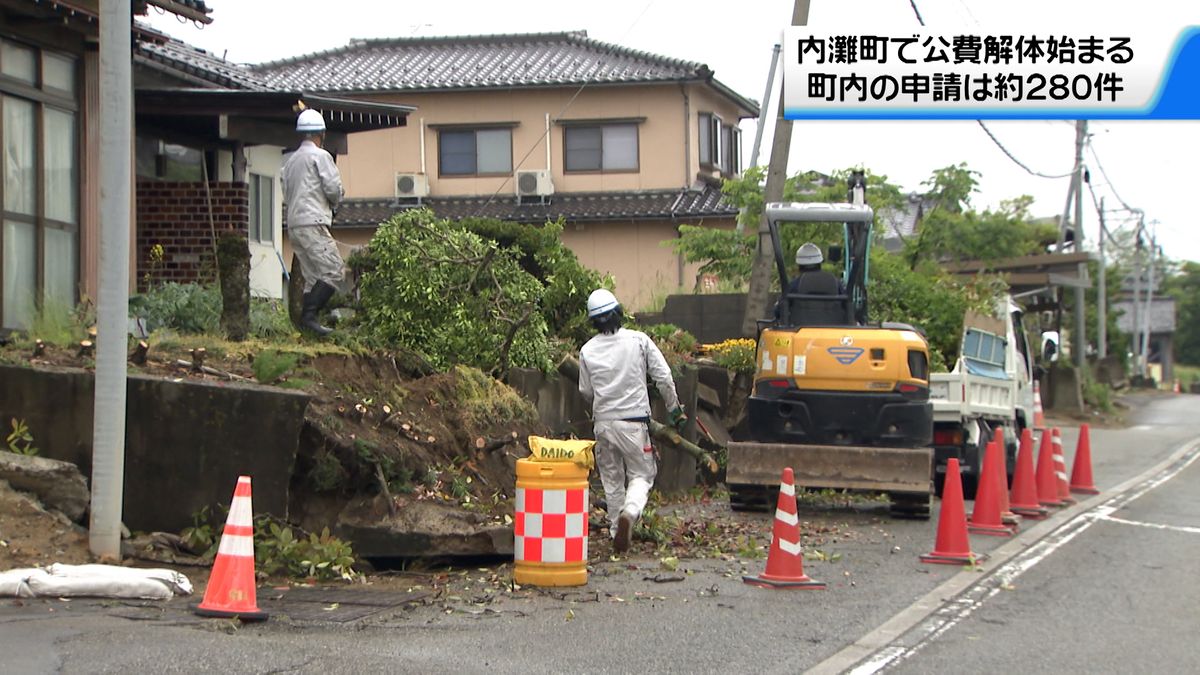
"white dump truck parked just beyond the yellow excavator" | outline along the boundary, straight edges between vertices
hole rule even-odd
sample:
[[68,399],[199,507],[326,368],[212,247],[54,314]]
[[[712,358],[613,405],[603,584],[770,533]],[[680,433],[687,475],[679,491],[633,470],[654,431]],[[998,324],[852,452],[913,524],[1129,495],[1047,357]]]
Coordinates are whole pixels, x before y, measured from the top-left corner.
[[1012,480],[1021,431],[1033,424],[1037,366],[1030,352],[1025,310],[1003,295],[989,315],[968,311],[950,372],[930,376],[934,404],[935,489],[942,492],[946,464],[959,460],[962,492],[973,498],[988,443],[996,429],[1004,435],[1004,464]]

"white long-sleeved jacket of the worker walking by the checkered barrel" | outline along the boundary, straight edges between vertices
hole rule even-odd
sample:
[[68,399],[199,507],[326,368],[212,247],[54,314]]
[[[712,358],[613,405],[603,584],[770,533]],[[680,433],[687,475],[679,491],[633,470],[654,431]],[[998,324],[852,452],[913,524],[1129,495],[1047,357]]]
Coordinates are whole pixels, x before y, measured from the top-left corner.
[[679,406],[671,368],[649,335],[620,328],[599,334],[580,350],[580,394],[598,420],[649,417],[646,376],[654,381],[667,410]]

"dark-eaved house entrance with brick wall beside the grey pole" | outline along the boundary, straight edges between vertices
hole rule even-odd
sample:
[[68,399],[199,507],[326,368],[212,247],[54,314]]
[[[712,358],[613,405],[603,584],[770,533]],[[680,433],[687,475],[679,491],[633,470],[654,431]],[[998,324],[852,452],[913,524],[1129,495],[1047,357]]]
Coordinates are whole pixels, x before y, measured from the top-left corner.
[[325,114],[335,154],[346,153],[348,135],[403,126],[412,110],[281,90],[163,36],[139,41],[134,65],[140,289],[211,280],[214,234],[234,229],[248,240],[251,293],[282,298],[290,268],[278,175],[283,153],[299,143],[294,106],[304,101]]

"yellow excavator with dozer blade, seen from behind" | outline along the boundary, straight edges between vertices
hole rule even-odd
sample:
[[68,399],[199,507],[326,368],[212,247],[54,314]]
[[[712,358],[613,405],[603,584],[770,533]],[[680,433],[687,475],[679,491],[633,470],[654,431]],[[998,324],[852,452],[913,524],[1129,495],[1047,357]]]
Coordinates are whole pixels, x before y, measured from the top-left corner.
[[[773,507],[773,488],[792,467],[797,486],[884,492],[893,515],[929,518],[929,345],[912,325],[869,323],[875,214],[860,173],[850,191],[850,203],[766,207],[781,292],[775,317],[758,322],[748,440],[728,444],[734,509]],[[834,287],[806,287],[808,274],[791,282],[779,232],[785,222],[841,225],[845,259],[829,251],[830,262],[842,263]]]

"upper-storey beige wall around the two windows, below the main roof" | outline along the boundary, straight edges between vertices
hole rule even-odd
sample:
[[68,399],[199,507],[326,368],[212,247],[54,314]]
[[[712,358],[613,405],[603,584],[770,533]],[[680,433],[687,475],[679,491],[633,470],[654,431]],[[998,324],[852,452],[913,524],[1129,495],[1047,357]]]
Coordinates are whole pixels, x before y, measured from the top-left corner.
[[[344,157],[338,159],[349,197],[391,197],[397,172],[422,172],[432,196],[511,195],[511,177],[439,177],[438,131],[443,124],[516,123],[512,129],[512,166],[546,168],[546,120],[646,118],[638,125],[638,171],[623,173],[565,173],[563,126],[551,125],[550,167],[558,192],[662,190],[690,185],[700,169],[696,150],[700,112],[716,112],[737,121],[732,102],[702,85],[593,86],[584,89],[514,89],[402,94],[377,97],[416,106],[408,126],[355,133]],[[569,107],[568,107],[569,104]],[[565,109],[565,112],[563,112]],[[685,117],[686,115],[686,117]],[[422,133],[424,124],[424,133]],[[684,129],[686,125],[686,129]]]

